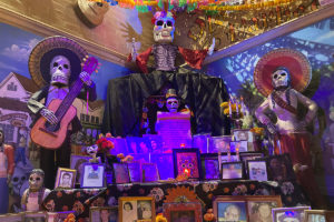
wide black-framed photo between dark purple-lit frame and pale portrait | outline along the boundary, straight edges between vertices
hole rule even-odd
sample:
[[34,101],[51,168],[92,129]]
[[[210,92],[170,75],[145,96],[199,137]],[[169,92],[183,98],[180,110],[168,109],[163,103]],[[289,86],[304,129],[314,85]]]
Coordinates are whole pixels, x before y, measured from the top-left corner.
[[222,163],[222,180],[240,180],[244,179],[243,162]]

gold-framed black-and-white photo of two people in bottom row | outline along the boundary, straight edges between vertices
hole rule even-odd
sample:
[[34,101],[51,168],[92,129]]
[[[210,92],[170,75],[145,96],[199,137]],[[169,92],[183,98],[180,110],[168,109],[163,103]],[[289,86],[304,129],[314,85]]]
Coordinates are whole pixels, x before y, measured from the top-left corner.
[[119,222],[156,221],[155,199],[151,196],[121,196],[118,209]]

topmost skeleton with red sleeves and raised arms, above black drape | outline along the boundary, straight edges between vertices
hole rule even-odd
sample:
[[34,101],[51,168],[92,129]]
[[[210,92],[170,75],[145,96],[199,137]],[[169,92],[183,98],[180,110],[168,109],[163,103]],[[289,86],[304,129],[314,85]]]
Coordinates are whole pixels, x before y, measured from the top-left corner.
[[147,61],[150,54],[155,57],[156,70],[174,72],[177,70],[175,67],[177,53],[180,53],[190,67],[200,69],[206,54],[212,54],[214,51],[215,38],[208,50],[189,50],[171,44],[175,32],[175,19],[169,11],[156,12],[151,22],[154,23],[153,32],[156,44],[137,57],[134,52],[129,57],[129,60],[136,57],[137,65],[145,73],[148,73]]

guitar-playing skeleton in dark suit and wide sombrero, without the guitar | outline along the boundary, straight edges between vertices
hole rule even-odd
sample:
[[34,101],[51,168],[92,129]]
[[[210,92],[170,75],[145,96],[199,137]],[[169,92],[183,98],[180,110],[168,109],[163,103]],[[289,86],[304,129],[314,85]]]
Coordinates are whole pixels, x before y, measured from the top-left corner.
[[[41,90],[31,95],[28,108],[37,114],[36,120],[43,117],[50,124],[57,124],[58,119],[48,105],[55,99],[63,100],[78,78],[84,82],[78,98],[86,99],[88,93],[90,101],[96,100],[96,85],[89,73],[81,71],[81,61],[87,54],[77,42],[65,37],[46,38],[33,48],[29,57],[29,71]],[[36,122],[32,123],[35,124]],[[53,188],[58,167],[69,167],[71,153],[69,135],[80,129],[80,121],[75,117],[60,148],[55,151],[41,149],[40,168],[46,173],[47,188]]]

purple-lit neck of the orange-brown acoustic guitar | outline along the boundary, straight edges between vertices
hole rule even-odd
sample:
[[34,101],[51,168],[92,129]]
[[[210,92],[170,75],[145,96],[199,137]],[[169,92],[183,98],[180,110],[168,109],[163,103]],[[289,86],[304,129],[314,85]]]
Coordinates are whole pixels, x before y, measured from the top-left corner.
[[84,82],[80,79],[77,79],[77,81],[73,83],[72,88],[70,89],[69,93],[66,95],[66,98],[60,103],[58,110],[56,111],[55,115],[60,121],[65,113],[68,111],[75,99],[78,97],[78,94],[81,91],[81,88],[84,87]]

